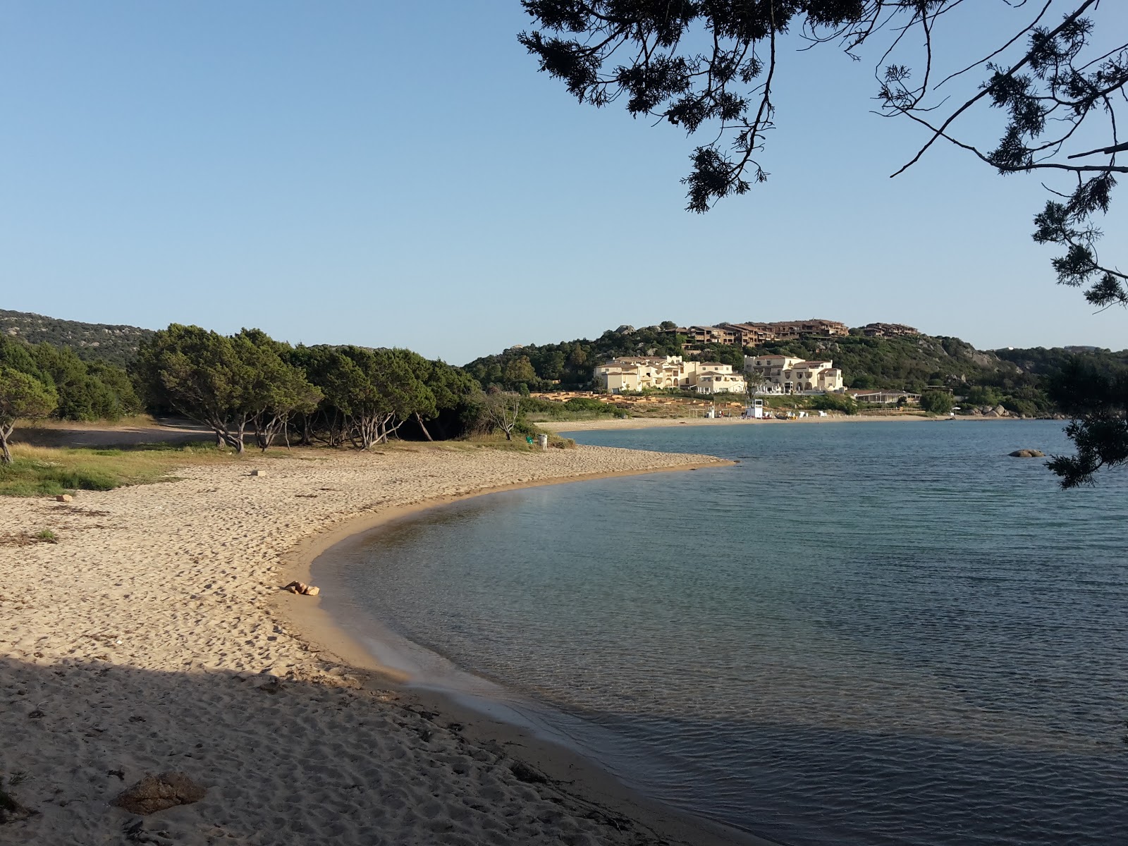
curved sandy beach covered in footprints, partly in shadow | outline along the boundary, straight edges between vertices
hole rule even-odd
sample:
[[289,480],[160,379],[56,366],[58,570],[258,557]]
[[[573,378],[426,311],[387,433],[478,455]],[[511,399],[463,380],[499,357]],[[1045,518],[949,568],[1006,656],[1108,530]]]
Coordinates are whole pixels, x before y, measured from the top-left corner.
[[[0,501],[0,776],[36,812],[0,839],[756,843],[405,689],[319,598],[281,591],[334,539],[404,509],[715,462],[594,447],[294,451],[65,504]],[[44,529],[58,543],[32,543]],[[108,804],[167,770],[204,797],[148,817]]]

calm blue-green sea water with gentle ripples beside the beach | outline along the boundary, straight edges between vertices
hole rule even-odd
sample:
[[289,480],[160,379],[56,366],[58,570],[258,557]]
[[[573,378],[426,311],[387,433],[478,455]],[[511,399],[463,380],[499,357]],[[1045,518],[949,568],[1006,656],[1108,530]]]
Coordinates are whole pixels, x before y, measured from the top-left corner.
[[529,488],[363,539],[352,603],[786,844],[1128,843],[1128,474],[1061,424],[587,432],[728,468]]

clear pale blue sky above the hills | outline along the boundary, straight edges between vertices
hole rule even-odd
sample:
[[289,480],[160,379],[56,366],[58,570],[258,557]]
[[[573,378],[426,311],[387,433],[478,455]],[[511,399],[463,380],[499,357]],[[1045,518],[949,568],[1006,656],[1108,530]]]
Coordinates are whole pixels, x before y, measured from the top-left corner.
[[[1012,34],[975,6],[950,68]],[[662,320],[1128,347],[1128,314],[1031,240],[1040,177],[936,147],[889,178],[924,135],[872,113],[873,58],[785,43],[769,180],[697,215],[700,141],[579,105],[530,24],[518,0],[0,0],[0,308],[456,364]],[[1002,115],[963,126],[989,142]],[[1128,261],[1128,212],[1102,228]]]

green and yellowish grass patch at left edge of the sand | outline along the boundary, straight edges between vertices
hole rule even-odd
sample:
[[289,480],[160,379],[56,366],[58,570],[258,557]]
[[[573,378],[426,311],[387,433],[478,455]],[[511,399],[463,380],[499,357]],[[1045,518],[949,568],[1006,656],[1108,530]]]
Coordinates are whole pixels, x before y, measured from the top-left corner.
[[17,446],[12,462],[0,466],[0,495],[58,496],[170,482],[175,477],[169,473],[177,467],[230,460],[235,460],[230,452],[210,444],[141,444],[130,449]]

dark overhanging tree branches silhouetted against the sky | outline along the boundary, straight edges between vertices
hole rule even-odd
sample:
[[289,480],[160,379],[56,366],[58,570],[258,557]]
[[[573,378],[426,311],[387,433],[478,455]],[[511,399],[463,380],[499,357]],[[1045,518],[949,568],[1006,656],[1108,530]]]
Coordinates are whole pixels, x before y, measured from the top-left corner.
[[[879,112],[911,121],[924,141],[892,176],[937,142],[966,150],[999,174],[1067,182],[1036,217],[1034,238],[1065,253],[1058,281],[1087,285],[1098,306],[1128,303],[1128,275],[1096,252],[1092,218],[1108,211],[1128,85],[1128,43],[1118,10],[1099,0],[1005,2],[1005,28],[978,61],[948,59],[963,27],[982,28],[981,3],[963,0],[521,0],[538,26],[520,43],[541,71],[580,103],[622,102],[634,116],[705,134],[694,149],[687,210],[705,212],[744,194],[768,171],[763,155],[775,121],[784,50],[835,44],[874,60]],[[1103,16],[1102,16],[1103,11]],[[1110,41],[1111,38],[1111,41]],[[984,149],[960,118],[997,109],[998,142]],[[1123,121],[1120,121],[1122,125]]]

